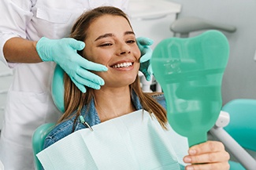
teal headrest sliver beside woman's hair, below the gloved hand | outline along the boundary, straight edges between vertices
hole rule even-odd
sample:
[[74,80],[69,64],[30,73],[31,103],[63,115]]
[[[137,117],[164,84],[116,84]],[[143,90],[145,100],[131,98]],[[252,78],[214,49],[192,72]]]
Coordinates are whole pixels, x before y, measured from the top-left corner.
[[64,71],[57,64],[54,70],[54,77],[51,85],[51,93],[54,104],[62,113],[65,112],[64,107]]

